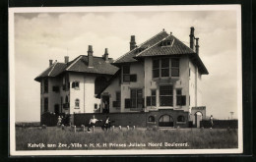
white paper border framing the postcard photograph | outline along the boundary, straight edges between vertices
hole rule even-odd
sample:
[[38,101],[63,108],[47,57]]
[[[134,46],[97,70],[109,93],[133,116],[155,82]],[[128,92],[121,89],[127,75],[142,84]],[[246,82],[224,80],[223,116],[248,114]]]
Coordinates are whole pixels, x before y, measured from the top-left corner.
[[[237,17],[237,107],[238,148],[234,149],[148,149],[148,150],[34,150],[16,151],[15,141],[15,13],[60,12],[159,12],[159,11],[236,11]],[[241,68],[241,6],[240,5],[187,5],[187,6],[116,6],[116,7],[52,7],[9,8],[9,106],[10,106],[10,155],[140,155],[140,154],[229,154],[243,152],[242,137],[242,68]]]

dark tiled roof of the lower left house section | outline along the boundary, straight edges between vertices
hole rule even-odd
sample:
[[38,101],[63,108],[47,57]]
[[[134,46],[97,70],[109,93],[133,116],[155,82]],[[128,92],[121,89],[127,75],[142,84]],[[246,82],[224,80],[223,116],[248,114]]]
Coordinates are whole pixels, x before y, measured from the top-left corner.
[[34,80],[39,81],[44,77],[56,77],[63,72],[81,72],[81,73],[92,73],[101,75],[114,75],[118,68],[111,65],[110,62],[105,62],[101,57],[94,57],[94,67],[88,67],[88,56],[80,55],[74,60],[66,63],[54,63],[43,71]]

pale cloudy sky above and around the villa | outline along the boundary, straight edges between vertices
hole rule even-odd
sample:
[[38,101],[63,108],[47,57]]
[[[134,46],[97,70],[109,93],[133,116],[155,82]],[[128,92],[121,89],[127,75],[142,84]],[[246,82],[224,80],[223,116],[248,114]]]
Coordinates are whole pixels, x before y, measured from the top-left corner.
[[209,71],[202,77],[207,116],[237,118],[237,20],[235,11],[155,11],[15,13],[16,122],[39,121],[40,90],[34,78],[49,59],[64,62],[108,48],[117,59],[129,51],[130,36],[140,44],[163,28],[188,45],[190,27],[199,37],[200,57]]

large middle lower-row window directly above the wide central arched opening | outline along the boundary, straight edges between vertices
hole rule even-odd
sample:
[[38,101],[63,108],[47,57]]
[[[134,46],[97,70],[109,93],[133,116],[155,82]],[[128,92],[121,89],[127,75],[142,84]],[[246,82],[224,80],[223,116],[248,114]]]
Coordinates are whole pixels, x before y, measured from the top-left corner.
[[173,86],[160,86],[160,106],[173,106]]

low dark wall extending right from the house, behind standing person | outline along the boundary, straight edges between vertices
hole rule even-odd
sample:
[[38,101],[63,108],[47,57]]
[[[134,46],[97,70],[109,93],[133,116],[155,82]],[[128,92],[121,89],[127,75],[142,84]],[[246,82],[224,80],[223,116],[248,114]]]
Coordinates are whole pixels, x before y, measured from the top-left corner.
[[[200,122],[200,126],[204,128],[210,128],[211,124],[209,120],[203,120]],[[216,129],[237,129],[238,121],[237,120],[214,120],[214,127]]]

